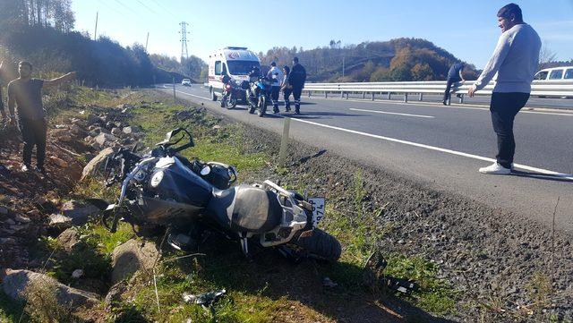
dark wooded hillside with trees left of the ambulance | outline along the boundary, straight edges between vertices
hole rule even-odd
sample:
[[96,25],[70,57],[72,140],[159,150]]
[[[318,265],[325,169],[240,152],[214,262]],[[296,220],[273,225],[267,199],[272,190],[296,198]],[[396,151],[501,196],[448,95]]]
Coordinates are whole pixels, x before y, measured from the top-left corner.
[[162,65],[171,58],[154,55],[152,60],[141,44],[122,47],[111,38],[94,40],[74,31],[74,23],[71,0],[0,0],[0,59],[12,64],[12,74],[16,62],[27,60],[39,75],[77,71],[79,80],[99,87],[198,79],[206,69],[197,57]]

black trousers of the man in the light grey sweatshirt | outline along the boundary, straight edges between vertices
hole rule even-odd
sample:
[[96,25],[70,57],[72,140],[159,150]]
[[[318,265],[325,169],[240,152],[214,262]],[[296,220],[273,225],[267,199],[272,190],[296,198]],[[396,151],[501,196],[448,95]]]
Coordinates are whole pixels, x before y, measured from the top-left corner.
[[513,121],[522,107],[526,106],[529,93],[492,93],[490,112],[492,113],[493,131],[498,136],[498,164],[511,167],[516,152],[516,141],[513,137]]

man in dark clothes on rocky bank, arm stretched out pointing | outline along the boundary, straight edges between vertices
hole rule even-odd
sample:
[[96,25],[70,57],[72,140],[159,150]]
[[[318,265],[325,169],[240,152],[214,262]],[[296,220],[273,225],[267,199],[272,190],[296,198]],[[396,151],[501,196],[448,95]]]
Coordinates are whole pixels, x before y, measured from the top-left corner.
[[[46,110],[42,106],[42,89],[54,88],[65,81],[72,81],[75,72],[69,72],[54,80],[32,79],[32,64],[18,64],[20,78],[8,84],[8,110],[10,123],[14,124],[18,112],[18,127],[24,141],[22,172],[31,169],[32,149],[36,146],[36,170],[45,173],[44,159],[46,158],[47,120]],[[15,109],[15,106],[18,106]]]

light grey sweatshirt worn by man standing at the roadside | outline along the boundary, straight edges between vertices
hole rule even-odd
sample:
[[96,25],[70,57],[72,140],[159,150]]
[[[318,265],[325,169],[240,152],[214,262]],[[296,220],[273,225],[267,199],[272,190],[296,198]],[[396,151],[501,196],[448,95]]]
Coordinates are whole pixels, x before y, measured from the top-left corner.
[[539,65],[541,39],[526,23],[513,26],[501,34],[492,58],[475,81],[483,89],[498,73],[493,92],[531,92],[531,81]]

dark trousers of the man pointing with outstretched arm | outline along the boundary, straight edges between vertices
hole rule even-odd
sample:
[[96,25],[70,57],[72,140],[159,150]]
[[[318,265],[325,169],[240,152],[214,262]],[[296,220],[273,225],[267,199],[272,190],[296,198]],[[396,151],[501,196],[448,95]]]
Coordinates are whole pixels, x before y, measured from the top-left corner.
[[24,165],[31,165],[32,149],[36,146],[36,165],[40,168],[43,167],[44,160],[46,159],[46,119],[20,119],[18,125],[21,138],[24,141],[24,150],[22,153]]

